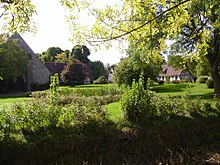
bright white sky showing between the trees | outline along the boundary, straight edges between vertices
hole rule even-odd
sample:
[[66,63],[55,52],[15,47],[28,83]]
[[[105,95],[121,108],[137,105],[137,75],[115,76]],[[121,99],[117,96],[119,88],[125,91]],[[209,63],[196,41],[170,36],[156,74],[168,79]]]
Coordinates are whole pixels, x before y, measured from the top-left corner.
[[[100,5],[104,5],[106,1],[97,0]],[[113,0],[117,1],[117,0]],[[34,0],[37,15],[34,16],[34,21],[37,23],[37,32],[21,34],[28,45],[35,53],[42,53],[49,47],[60,47],[62,50],[72,50],[76,43],[70,42],[71,33],[69,25],[66,21],[66,11],[59,3],[59,0]],[[83,18],[82,21],[89,21]],[[93,50],[93,47],[86,45],[91,54],[91,61],[102,61],[104,64],[115,64],[125,56],[120,53],[117,48],[108,50]]]

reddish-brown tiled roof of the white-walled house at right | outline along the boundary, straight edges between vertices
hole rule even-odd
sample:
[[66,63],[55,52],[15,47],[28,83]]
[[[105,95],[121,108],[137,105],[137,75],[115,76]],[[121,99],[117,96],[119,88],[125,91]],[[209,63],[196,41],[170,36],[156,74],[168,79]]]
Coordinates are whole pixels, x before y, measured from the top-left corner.
[[180,76],[182,69],[175,70],[172,66],[162,65],[162,72],[159,76]]

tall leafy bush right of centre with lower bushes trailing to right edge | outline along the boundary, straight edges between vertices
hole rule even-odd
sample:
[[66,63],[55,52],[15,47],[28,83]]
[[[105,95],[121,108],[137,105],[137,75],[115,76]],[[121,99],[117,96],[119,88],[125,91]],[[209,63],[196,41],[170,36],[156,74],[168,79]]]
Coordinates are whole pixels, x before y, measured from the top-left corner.
[[189,92],[179,97],[156,96],[152,91],[145,90],[141,79],[138,83],[133,82],[131,89],[123,94],[121,105],[125,119],[133,124],[155,124],[177,116],[210,116],[218,111],[211,103],[191,99]]

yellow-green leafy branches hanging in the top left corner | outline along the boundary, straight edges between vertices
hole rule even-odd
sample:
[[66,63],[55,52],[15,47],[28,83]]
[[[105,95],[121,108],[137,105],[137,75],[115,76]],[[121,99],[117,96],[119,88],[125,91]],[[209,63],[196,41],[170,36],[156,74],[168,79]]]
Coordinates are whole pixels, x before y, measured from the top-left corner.
[[3,33],[16,33],[34,30],[32,16],[36,14],[35,6],[31,0],[1,0],[0,1],[1,35],[0,43],[3,42]]

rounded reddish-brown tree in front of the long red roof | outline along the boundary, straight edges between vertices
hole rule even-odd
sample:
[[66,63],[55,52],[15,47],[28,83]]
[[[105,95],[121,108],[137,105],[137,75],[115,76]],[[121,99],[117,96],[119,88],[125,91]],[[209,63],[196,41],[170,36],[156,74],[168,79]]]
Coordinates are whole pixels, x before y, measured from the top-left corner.
[[83,84],[85,80],[83,63],[77,59],[71,60],[67,68],[61,73],[61,78],[66,85]]

